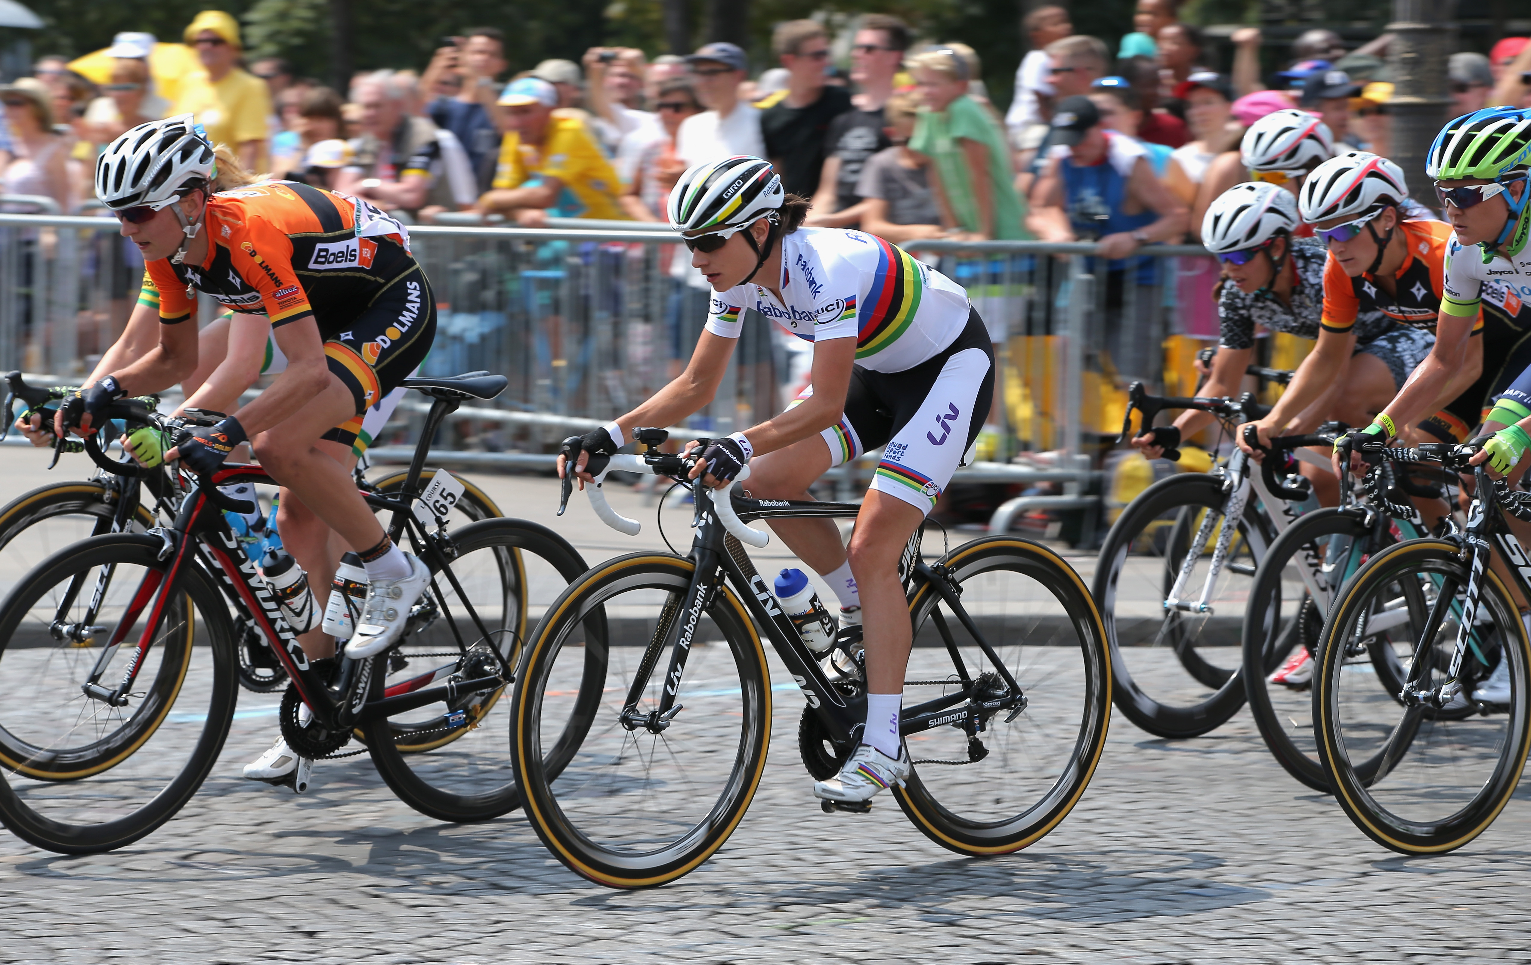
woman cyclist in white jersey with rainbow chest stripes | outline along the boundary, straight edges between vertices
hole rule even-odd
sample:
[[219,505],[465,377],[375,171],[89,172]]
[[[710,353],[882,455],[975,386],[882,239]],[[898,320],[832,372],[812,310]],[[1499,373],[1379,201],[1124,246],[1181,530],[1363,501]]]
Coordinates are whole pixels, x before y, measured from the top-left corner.
[[911,772],[899,737],[911,632],[897,563],[983,427],[994,352],[961,286],[870,234],[802,228],[807,211],[759,158],[681,174],[669,222],[715,292],[706,330],[680,378],[582,439],[577,468],[589,480],[589,453],[615,453],[634,428],[675,425],[706,405],[747,309],[813,343],[811,388],[773,419],[710,440],[694,476],[723,485],[753,459],[755,497],[805,500],[828,468],[886,444],[848,547],[830,520],[772,523],[834,589],[842,618],[865,621],[863,743],[839,777],[814,785],[821,798],[865,801]]

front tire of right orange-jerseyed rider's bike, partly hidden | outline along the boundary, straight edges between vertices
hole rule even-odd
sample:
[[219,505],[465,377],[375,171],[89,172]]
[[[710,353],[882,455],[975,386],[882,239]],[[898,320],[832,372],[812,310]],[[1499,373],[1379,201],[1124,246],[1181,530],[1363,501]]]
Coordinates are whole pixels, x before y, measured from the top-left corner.
[[[1286,722],[1281,720],[1281,713],[1271,699],[1271,688],[1278,685],[1266,679],[1281,665],[1288,653],[1300,645],[1295,641],[1295,633],[1300,632],[1297,621],[1304,619],[1304,615],[1301,607],[1297,607],[1292,619],[1283,625],[1272,625],[1271,609],[1274,604],[1275,613],[1281,613],[1281,577],[1286,564],[1292,557],[1304,552],[1314,540],[1324,537],[1369,540],[1370,535],[1372,529],[1352,509],[1326,508],[1303,514],[1266,551],[1255,573],[1254,587],[1249,590],[1249,607],[1245,610],[1243,682],[1249,713],[1277,763],[1300,783],[1323,794],[1329,794],[1329,777],[1318,760],[1317,746],[1309,749],[1306,742],[1294,740]],[[1330,587],[1330,596],[1335,590],[1338,587]],[[1327,601],[1324,606],[1327,607]],[[1298,723],[1301,722],[1298,720]],[[1312,719],[1309,717],[1309,729],[1311,726]]]

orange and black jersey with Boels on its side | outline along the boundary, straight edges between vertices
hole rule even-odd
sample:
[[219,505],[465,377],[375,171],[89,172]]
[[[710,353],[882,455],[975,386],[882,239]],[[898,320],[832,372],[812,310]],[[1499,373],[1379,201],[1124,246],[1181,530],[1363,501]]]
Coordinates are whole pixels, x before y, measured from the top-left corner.
[[288,180],[211,196],[202,231],[202,265],[147,266],[162,324],[191,317],[196,289],[236,312],[265,312],[273,326],[312,317],[328,340],[415,269],[403,225],[364,200]]

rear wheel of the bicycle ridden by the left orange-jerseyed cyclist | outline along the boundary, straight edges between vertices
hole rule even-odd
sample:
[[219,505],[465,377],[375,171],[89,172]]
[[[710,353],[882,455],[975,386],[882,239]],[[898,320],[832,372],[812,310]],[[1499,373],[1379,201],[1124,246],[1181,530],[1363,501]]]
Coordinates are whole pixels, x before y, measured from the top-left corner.
[[[416,606],[406,642],[378,658],[389,673],[374,679],[374,699],[462,679],[495,661],[498,648],[511,668],[521,659],[527,627],[585,572],[585,560],[563,537],[525,520],[491,518],[452,534],[456,586],[436,572],[435,590]],[[461,590],[458,589],[461,587]],[[467,613],[482,619],[488,638]],[[534,612],[537,610],[537,612]],[[605,641],[605,615],[586,621],[591,639]],[[464,658],[458,639],[467,645]],[[384,720],[366,720],[363,734],[387,726],[393,740],[367,742],[389,788],[410,807],[442,821],[485,821],[521,803],[510,769],[510,711],[501,691],[468,693]],[[576,739],[577,743],[577,739]],[[429,754],[419,751],[429,749]]]

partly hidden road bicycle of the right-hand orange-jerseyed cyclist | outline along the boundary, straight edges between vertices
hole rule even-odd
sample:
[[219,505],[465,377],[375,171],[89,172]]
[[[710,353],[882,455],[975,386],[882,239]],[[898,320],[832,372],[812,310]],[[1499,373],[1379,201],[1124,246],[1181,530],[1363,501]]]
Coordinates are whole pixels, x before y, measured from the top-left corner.
[[[1281,479],[1275,466],[1294,448],[1332,447],[1334,436],[1330,431],[1271,440],[1262,463],[1263,480],[1266,489],[1285,500],[1280,503],[1285,512],[1303,503],[1306,482],[1301,477]],[[1251,442],[1258,445],[1258,440]],[[1428,535],[1425,520],[1410,497],[1439,500],[1442,489],[1431,482],[1413,480],[1419,470],[1395,474],[1384,463],[1378,473],[1373,485],[1392,494],[1387,508],[1379,509],[1364,494],[1358,499],[1355,486],[1347,485],[1341,489],[1338,506],[1312,509],[1289,521],[1260,561],[1245,607],[1242,677],[1249,713],[1288,774],[1324,794],[1330,788],[1318,760],[1309,687],[1272,684],[1268,677],[1300,648],[1312,659],[1334,595],[1363,563],[1393,543]],[[1381,687],[1396,691],[1405,674],[1404,667],[1393,659],[1392,648],[1379,648],[1378,655],[1378,681]],[[1375,768],[1375,762],[1361,766],[1363,771],[1369,768]]]

